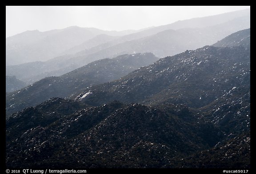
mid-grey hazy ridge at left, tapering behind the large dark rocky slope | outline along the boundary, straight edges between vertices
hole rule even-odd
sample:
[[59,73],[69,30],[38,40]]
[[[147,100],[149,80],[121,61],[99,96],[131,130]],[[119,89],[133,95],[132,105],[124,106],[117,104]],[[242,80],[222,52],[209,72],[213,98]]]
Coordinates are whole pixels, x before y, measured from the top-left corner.
[[69,97],[92,85],[113,81],[156,60],[151,53],[124,54],[92,62],[60,77],[46,77],[6,94],[6,114],[36,106],[52,97]]

